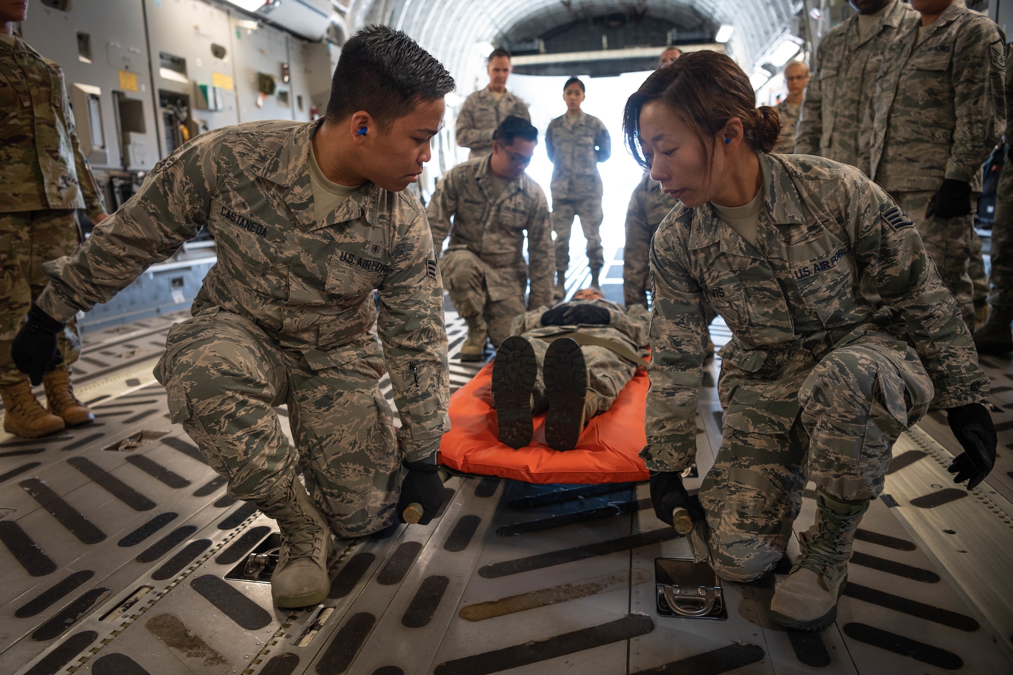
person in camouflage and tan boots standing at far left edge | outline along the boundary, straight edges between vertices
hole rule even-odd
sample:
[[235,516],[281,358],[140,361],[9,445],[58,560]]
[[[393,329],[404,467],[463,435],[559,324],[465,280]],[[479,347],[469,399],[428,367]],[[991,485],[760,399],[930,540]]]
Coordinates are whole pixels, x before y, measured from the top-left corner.
[[95,419],[70,383],[81,354],[73,317],[60,331],[63,363],[43,378],[46,408],[10,348],[46,287],[43,262],[81,243],[76,210],[99,223],[105,207],[81,154],[63,69],[13,33],[26,16],[25,3],[0,0],[0,395],[4,431],[35,438]]

